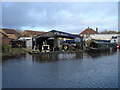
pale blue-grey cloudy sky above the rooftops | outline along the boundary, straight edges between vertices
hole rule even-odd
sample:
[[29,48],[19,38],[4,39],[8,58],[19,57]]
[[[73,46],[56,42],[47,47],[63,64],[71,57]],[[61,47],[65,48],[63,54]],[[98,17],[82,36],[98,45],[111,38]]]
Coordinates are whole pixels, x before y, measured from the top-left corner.
[[2,24],[20,30],[118,30],[117,2],[3,2]]

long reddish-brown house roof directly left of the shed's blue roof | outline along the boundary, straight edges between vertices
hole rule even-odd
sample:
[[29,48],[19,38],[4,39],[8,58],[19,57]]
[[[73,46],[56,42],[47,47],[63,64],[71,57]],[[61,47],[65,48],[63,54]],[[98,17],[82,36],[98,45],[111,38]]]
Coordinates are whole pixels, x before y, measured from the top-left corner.
[[22,32],[22,36],[23,37],[34,37],[40,34],[43,34],[45,32],[43,31],[32,31],[32,30],[25,30],[24,32]]

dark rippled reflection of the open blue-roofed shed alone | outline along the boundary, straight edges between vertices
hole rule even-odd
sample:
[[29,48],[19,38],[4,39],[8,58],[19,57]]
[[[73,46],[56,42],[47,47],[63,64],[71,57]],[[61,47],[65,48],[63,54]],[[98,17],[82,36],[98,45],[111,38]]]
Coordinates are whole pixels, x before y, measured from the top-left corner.
[[60,60],[78,60],[83,58],[82,52],[75,53],[49,53],[49,54],[39,54],[32,55],[32,60],[40,63],[45,62],[55,62]]

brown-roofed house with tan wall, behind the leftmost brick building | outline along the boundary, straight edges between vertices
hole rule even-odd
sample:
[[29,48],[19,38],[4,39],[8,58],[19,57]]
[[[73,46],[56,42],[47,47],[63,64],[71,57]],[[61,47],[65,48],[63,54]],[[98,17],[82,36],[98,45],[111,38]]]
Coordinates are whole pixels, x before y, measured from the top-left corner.
[[4,33],[11,39],[18,39],[20,37],[20,34],[15,29],[1,28],[0,32]]

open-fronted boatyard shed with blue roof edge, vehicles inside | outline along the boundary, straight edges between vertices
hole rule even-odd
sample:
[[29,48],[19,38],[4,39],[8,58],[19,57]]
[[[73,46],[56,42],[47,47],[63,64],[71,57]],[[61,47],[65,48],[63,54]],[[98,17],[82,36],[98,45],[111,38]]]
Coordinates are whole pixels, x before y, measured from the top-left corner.
[[52,30],[35,36],[33,38],[33,49],[40,51],[47,48],[49,51],[81,50],[83,49],[82,41],[83,38],[79,35]]

